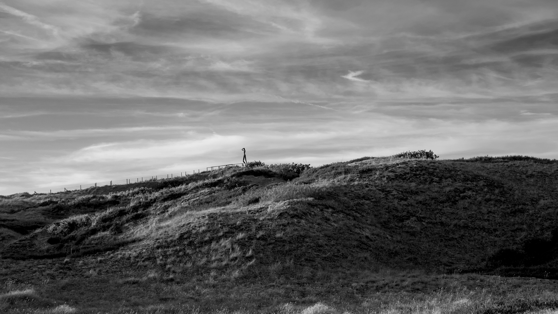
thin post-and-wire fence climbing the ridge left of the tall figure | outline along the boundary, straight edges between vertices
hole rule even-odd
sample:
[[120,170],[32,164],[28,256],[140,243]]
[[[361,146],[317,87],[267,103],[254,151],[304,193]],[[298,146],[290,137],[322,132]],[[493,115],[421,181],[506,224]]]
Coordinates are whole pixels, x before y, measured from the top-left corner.
[[[244,163],[240,163],[240,164],[228,164],[228,165],[220,165],[220,166],[210,166],[210,167],[206,167],[204,172],[208,172],[208,171],[213,171],[213,170],[217,170],[217,169],[222,169],[222,168],[226,168],[229,166],[238,166],[238,165],[246,165]],[[198,171],[196,172],[196,170],[191,170],[191,171],[187,171],[187,172],[180,172],[180,173],[170,173],[170,174],[162,174],[162,175],[152,175],[150,177],[137,177],[137,178],[131,178],[131,179],[121,179],[121,180],[110,180],[110,181],[104,181],[104,182],[95,182],[95,183],[89,183],[89,184],[80,184],[80,185],[74,185],[72,187],[62,187],[62,188],[57,188],[57,189],[47,189],[47,190],[42,190],[42,191],[33,191],[35,192],[35,194],[52,194],[52,193],[64,193],[64,192],[70,192],[70,191],[78,191],[78,190],[83,190],[83,189],[88,189],[88,188],[96,188],[96,187],[103,187],[103,186],[112,186],[112,185],[123,185],[123,184],[132,184],[132,183],[141,183],[141,182],[152,182],[152,181],[157,181],[157,180],[165,180],[165,179],[174,179],[174,178],[181,178],[181,177],[186,177],[188,175],[192,175],[195,173],[200,173],[202,172],[201,169],[198,169]]]

